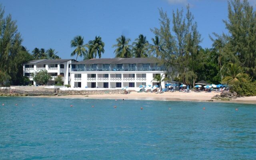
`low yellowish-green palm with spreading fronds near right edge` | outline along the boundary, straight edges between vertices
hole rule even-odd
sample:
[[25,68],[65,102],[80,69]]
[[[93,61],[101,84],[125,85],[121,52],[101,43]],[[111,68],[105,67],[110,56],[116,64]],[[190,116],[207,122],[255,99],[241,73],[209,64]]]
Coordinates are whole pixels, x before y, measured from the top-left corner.
[[229,63],[227,66],[226,77],[223,79],[224,83],[228,83],[230,81],[246,81],[246,77],[248,74],[243,73],[241,66],[237,63]]

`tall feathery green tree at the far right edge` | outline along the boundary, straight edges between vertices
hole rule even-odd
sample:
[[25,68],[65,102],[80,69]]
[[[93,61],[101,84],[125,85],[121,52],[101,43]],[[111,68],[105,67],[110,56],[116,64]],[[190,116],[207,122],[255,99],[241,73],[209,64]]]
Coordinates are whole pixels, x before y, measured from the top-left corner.
[[[228,2],[229,52],[238,57],[245,72],[256,78],[256,11],[248,0]],[[230,61],[235,63],[234,61]]]

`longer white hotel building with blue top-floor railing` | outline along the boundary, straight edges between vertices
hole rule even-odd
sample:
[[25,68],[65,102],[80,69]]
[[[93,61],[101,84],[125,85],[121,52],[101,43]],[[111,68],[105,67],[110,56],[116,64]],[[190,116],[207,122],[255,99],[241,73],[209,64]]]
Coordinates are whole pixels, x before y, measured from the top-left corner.
[[[158,58],[101,58],[74,62],[70,85],[78,88],[122,88],[156,85],[166,68]],[[164,86],[165,82],[162,82]]]

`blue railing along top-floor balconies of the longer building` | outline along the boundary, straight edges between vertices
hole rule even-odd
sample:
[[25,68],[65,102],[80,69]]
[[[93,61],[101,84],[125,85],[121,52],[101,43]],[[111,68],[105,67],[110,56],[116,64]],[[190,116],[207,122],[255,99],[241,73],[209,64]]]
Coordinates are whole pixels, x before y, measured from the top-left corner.
[[142,68],[72,68],[72,71],[154,71],[166,70],[165,67],[142,67]]

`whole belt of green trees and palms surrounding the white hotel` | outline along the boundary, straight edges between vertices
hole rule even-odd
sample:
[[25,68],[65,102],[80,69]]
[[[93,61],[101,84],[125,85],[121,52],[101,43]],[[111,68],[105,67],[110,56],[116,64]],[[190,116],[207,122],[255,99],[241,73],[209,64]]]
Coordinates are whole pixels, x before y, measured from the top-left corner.
[[[172,16],[159,9],[160,25],[150,29],[149,39],[140,34],[133,42],[125,35],[116,39],[116,57],[157,57],[168,70],[168,78],[194,86],[196,81],[225,83],[238,95],[256,95],[256,11],[248,0],[230,0],[228,17],[223,20],[228,34],[210,34],[212,48],[202,48],[201,34],[190,7],[173,10]],[[22,46],[22,38],[11,15],[4,17],[0,6],[0,86],[22,85],[22,64],[33,59],[58,59],[54,49],[34,48],[31,53]],[[71,40],[71,56],[101,58],[104,42],[100,36],[84,44],[82,36]],[[179,75],[178,77],[176,75]],[[159,82],[163,78],[155,77]],[[159,79],[160,78],[160,79]],[[45,84],[45,82],[43,83]]]

